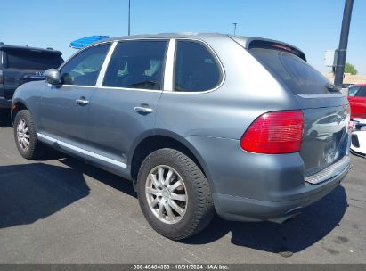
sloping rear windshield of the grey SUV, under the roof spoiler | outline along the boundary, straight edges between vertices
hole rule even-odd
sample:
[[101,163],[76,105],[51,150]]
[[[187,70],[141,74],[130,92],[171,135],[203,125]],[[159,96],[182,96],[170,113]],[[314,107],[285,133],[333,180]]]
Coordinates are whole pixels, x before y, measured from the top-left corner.
[[293,53],[264,48],[252,48],[249,52],[293,94],[331,94],[325,86],[328,79]]

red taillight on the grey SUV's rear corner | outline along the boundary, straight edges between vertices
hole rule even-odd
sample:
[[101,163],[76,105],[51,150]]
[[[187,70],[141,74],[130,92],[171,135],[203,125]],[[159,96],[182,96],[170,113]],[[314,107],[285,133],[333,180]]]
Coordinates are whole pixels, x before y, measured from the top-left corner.
[[299,152],[303,138],[303,111],[273,111],[258,117],[240,139],[247,152]]

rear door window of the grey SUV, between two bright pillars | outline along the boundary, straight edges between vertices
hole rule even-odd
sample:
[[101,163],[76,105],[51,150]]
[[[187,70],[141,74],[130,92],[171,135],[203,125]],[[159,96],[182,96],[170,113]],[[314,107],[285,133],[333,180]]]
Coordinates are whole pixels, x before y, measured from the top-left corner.
[[102,86],[161,89],[166,47],[165,40],[118,43]]

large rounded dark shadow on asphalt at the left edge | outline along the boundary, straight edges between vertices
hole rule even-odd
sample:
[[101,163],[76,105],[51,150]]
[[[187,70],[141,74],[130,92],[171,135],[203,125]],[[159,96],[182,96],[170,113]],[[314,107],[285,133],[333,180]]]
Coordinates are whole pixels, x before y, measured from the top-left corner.
[[0,228],[32,224],[88,194],[83,175],[70,168],[0,166]]

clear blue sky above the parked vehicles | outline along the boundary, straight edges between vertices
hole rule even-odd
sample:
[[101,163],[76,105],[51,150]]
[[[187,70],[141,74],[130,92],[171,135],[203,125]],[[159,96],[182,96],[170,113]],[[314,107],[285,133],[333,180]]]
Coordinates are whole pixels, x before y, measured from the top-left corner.
[[[232,33],[297,45],[321,71],[324,51],[338,47],[345,0],[131,0],[132,34]],[[80,37],[127,34],[128,0],[4,0],[0,41],[53,47],[68,58]],[[6,12],[5,12],[6,11]],[[354,0],[347,62],[366,75],[366,0]]]

